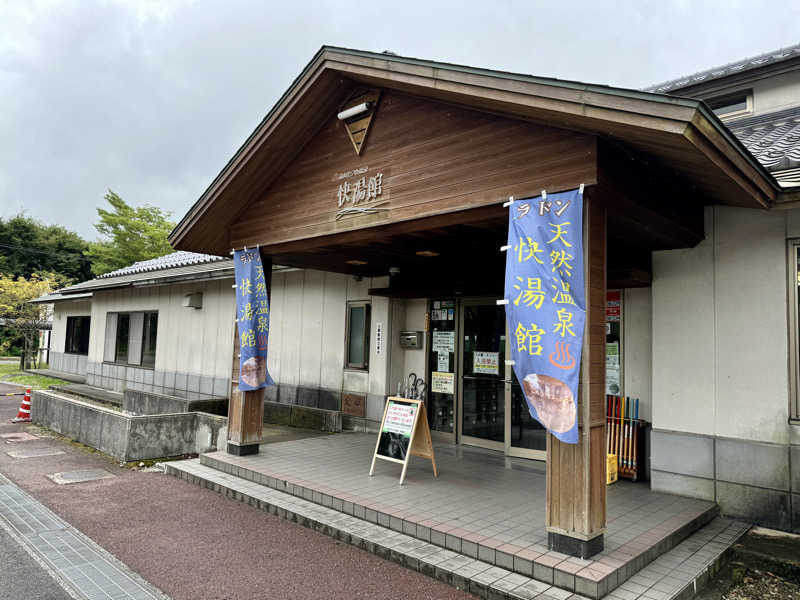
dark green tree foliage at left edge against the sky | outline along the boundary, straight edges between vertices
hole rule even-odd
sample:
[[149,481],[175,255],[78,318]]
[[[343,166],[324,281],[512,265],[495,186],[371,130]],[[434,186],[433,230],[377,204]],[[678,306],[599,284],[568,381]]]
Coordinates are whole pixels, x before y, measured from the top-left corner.
[[0,219],[0,273],[6,275],[50,272],[86,281],[92,277],[83,255],[88,248],[86,240],[61,225],[44,225],[24,214]]

